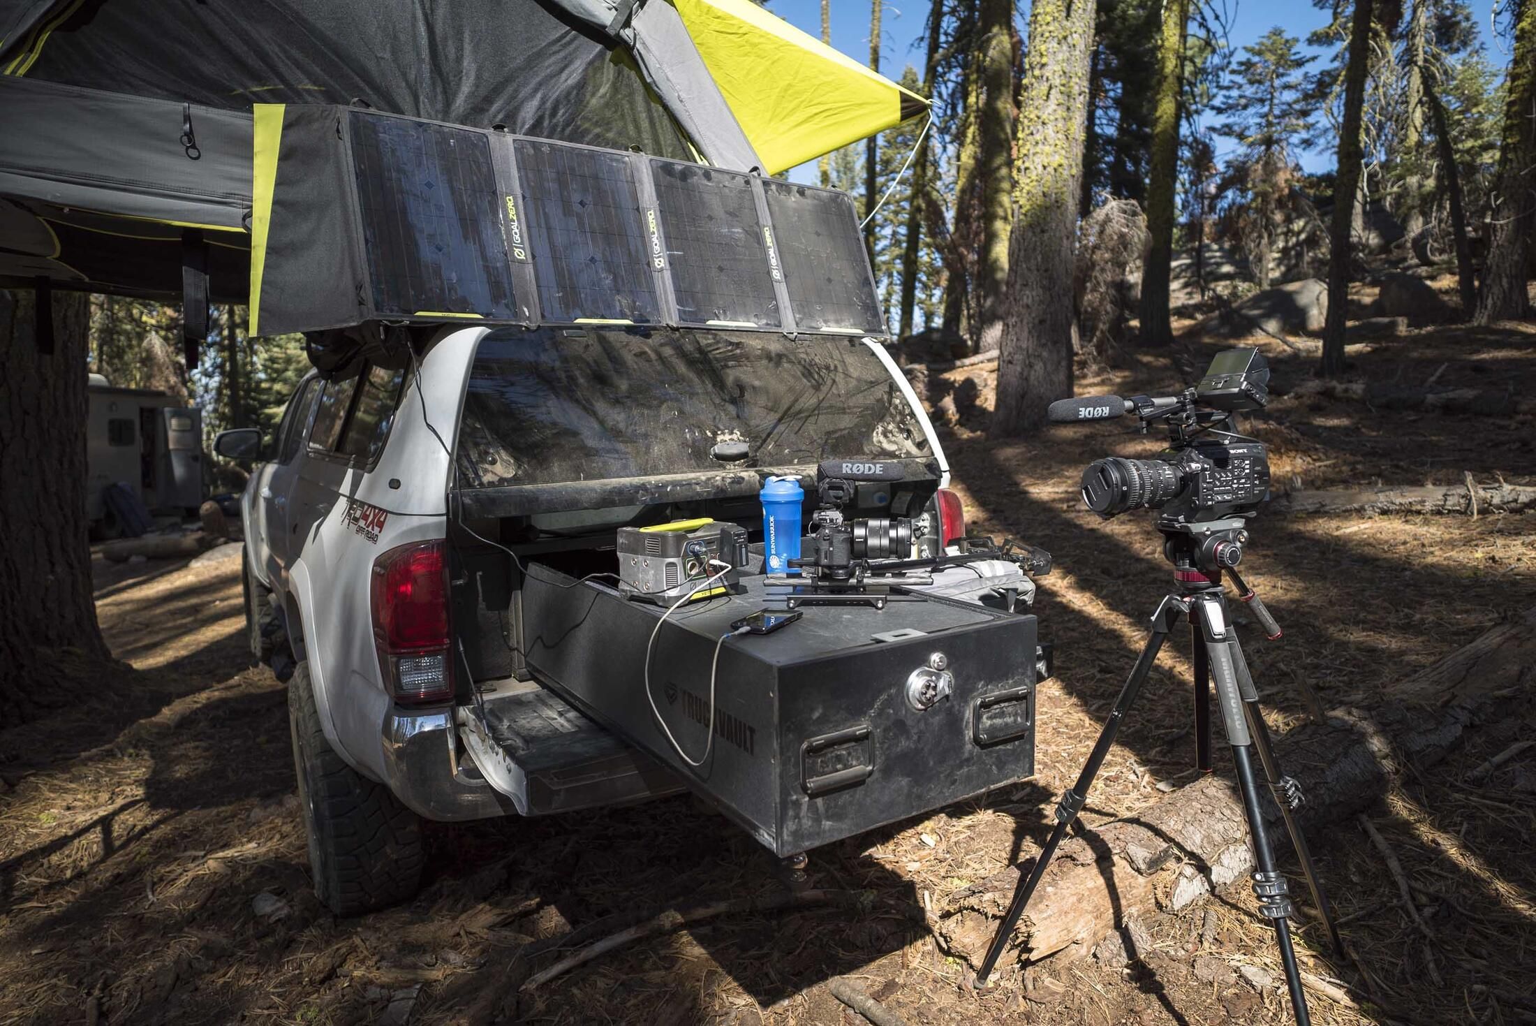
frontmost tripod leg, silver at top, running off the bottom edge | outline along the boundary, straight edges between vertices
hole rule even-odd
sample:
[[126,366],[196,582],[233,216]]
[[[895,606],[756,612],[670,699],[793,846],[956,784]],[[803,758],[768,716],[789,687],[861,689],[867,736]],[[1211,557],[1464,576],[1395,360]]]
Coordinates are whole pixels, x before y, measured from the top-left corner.
[[1310,1026],[1307,995],[1301,989],[1301,969],[1296,951],[1290,943],[1290,892],[1286,877],[1275,869],[1275,854],[1269,845],[1269,831],[1258,803],[1258,782],[1253,777],[1253,737],[1249,733],[1244,702],[1233,667],[1232,625],[1226,616],[1226,602],[1220,593],[1203,594],[1190,604],[1190,617],[1198,619],[1204,634],[1204,647],[1210,656],[1210,676],[1217,690],[1217,708],[1232,745],[1232,765],[1243,793],[1243,811],[1247,814],[1249,839],[1253,843],[1253,894],[1260,911],[1275,925],[1275,945],[1279,948],[1279,963],[1286,971],[1286,986],[1290,991],[1290,1008],[1296,1026]]

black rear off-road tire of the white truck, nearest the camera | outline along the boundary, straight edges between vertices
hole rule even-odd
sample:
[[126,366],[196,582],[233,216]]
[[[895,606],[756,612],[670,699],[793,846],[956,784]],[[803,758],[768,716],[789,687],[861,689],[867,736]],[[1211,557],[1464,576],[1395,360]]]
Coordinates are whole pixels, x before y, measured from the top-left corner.
[[421,817],[343,762],[319,726],[309,664],[289,680],[289,730],[315,895],[336,915],[404,902],[421,886]]

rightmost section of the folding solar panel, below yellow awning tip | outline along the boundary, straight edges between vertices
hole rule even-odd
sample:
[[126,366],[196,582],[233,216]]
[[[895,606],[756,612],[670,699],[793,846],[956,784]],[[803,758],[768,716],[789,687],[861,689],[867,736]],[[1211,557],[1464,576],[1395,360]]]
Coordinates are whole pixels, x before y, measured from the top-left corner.
[[869,260],[848,195],[774,178],[763,180],[763,192],[796,327],[883,335]]

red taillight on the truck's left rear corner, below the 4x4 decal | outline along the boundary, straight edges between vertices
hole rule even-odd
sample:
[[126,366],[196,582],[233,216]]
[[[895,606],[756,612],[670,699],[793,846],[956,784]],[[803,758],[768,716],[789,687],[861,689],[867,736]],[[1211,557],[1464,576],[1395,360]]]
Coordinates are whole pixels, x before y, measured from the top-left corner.
[[452,697],[445,544],[418,542],[381,554],[373,561],[369,597],[373,647],[395,700],[421,705]]

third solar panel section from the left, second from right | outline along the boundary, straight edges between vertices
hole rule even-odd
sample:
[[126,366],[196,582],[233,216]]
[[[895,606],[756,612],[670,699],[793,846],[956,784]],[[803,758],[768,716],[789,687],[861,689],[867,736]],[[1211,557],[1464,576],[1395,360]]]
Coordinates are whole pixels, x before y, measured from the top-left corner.
[[662,244],[671,264],[677,321],[780,327],[753,180],[716,167],[653,160]]

